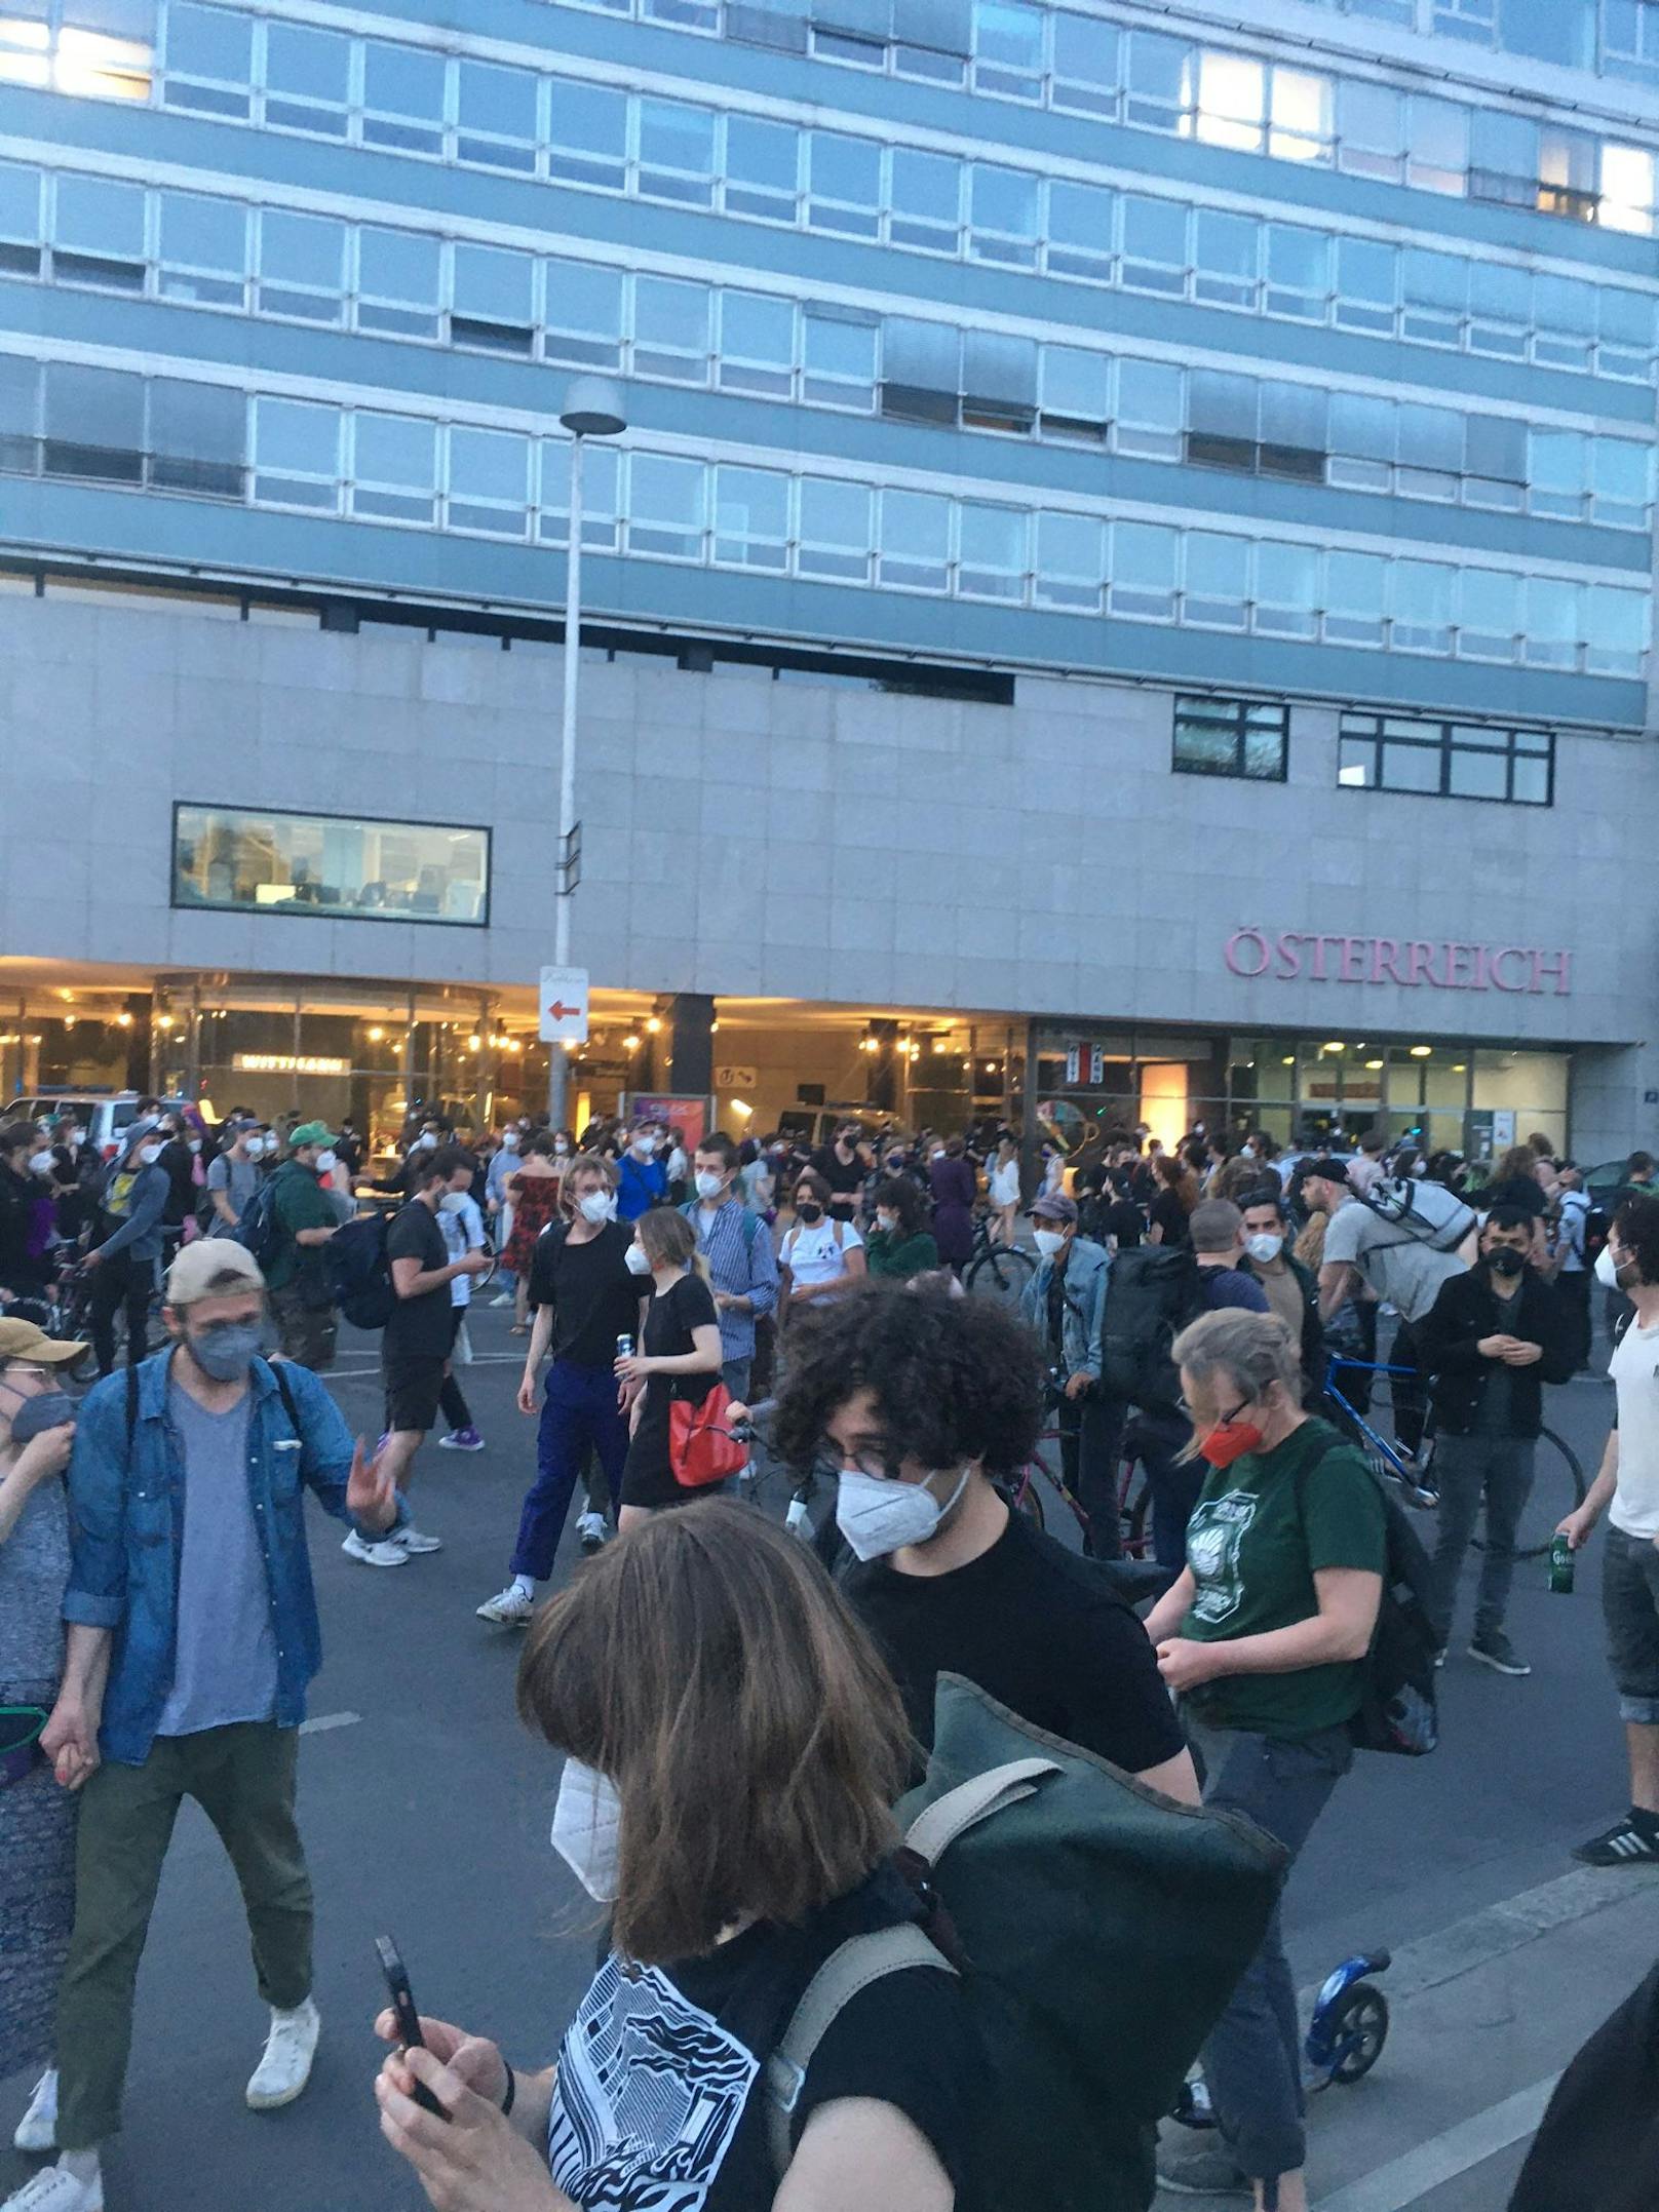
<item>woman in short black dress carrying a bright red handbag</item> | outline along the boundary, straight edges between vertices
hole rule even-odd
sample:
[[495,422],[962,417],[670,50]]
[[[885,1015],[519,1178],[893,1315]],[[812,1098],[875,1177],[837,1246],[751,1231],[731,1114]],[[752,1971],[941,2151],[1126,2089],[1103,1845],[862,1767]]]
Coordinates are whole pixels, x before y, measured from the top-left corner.
[[[646,1513],[684,1506],[706,1491],[686,1491],[668,1460],[668,1407],[679,1400],[701,1405],[721,1371],[721,1325],[708,1287],[708,1261],[697,1250],[697,1230],[670,1206],[653,1206],[635,1221],[628,1265],[650,1276],[655,1292],[646,1307],[646,1338],[617,1360],[617,1380],[635,1389],[628,1462],[622,1469],[619,1528],[633,1528]],[[644,1389],[639,1389],[644,1385]]]

